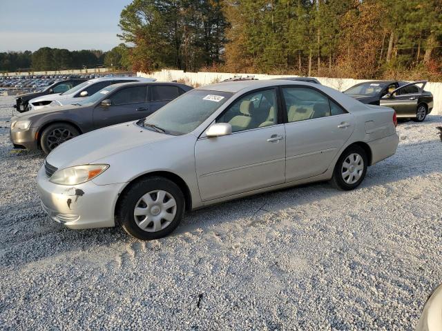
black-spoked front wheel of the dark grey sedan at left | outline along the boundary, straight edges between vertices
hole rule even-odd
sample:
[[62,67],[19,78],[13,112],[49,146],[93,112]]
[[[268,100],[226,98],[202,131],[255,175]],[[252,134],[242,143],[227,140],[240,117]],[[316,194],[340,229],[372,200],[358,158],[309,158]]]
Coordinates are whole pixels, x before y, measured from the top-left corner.
[[79,136],[80,132],[67,123],[54,123],[41,132],[40,146],[41,149],[49,154],[54,148],[61,143]]

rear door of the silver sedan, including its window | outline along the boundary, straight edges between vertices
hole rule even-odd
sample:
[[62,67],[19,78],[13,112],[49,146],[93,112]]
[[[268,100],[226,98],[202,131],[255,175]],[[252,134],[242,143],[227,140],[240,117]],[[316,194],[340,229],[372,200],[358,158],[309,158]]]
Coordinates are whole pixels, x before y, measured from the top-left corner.
[[354,117],[312,88],[282,88],[287,111],[286,181],[325,172],[354,130]]

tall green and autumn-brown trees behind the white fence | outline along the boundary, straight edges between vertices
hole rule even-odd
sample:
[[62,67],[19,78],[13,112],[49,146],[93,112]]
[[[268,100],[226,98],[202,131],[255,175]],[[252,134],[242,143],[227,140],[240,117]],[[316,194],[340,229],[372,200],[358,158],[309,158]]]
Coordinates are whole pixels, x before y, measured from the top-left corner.
[[134,70],[441,79],[440,0],[134,0]]

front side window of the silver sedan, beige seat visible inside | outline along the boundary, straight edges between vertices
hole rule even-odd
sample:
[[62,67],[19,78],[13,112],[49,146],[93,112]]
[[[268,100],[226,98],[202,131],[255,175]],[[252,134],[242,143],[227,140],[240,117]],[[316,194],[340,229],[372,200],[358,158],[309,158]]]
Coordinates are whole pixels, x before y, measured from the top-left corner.
[[217,123],[230,123],[232,132],[263,128],[278,123],[276,91],[252,92],[240,97],[224,112]]

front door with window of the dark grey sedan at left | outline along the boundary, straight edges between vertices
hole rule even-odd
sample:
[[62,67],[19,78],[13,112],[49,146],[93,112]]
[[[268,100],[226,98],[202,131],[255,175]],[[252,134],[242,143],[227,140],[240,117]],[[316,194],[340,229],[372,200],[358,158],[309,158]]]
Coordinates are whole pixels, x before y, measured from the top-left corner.
[[94,108],[94,128],[103,128],[146,117],[148,112],[147,86],[120,88],[108,97],[111,106],[99,104]]

